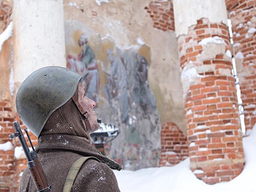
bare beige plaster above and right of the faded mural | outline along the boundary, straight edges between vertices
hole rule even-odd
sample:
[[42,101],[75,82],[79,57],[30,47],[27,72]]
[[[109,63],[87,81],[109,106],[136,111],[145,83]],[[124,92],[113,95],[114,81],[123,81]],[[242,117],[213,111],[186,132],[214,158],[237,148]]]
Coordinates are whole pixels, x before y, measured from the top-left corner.
[[[145,43],[151,53],[148,81],[156,97],[161,123],[175,122],[186,133],[175,32],[153,27],[154,22],[145,10],[150,2],[114,0],[99,5],[96,1],[64,1],[64,20],[78,21],[101,38],[111,37],[122,49]],[[74,29],[65,30],[71,34]],[[66,35],[67,38],[74,36]]]

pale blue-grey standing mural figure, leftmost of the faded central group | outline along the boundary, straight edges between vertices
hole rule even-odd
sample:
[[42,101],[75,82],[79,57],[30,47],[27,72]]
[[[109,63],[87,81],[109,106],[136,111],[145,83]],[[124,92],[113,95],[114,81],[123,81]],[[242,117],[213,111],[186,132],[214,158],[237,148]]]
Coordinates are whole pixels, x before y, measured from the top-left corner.
[[111,62],[111,70],[106,72],[108,82],[105,84],[103,92],[110,104],[112,99],[118,97],[121,121],[126,122],[130,111],[126,68],[120,58],[114,57],[113,50],[107,49],[107,56]]

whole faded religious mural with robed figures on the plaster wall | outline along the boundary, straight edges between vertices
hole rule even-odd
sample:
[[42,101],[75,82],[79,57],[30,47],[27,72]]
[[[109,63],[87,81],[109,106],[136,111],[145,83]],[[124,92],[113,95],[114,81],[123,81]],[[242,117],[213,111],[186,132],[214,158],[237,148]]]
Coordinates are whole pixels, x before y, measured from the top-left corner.
[[98,118],[120,129],[105,145],[107,155],[129,170],[158,166],[161,123],[148,82],[150,47],[121,48],[115,37],[101,38],[71,21],[66,29],[67,67],[89,72],[86,95],[96,101]]

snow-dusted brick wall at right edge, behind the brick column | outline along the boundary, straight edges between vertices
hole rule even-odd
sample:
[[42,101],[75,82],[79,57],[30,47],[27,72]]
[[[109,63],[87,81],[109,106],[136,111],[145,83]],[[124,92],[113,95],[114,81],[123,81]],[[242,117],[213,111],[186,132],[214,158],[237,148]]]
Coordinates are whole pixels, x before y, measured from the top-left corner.
[[[241,89],[244,123],[250,130],[256,123],[256,2],[226,0],[232,23],[233,50]],[[248,132],[247,132],[248,133]]]

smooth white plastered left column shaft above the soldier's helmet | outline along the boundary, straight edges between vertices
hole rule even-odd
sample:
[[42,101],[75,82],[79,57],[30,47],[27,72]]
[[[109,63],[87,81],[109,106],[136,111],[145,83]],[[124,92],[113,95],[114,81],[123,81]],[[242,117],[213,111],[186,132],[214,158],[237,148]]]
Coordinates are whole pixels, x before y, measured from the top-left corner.
[[62,0],[14,0],[13,22],[16,87],[43,66],[66,67]]

